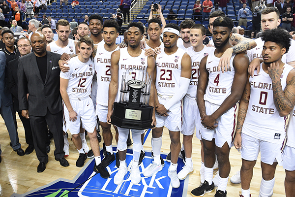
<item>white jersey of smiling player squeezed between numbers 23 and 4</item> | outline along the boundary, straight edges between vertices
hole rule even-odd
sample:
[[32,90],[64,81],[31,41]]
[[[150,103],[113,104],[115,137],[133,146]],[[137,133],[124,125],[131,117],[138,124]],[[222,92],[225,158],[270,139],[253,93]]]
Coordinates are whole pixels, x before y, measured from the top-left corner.
[[186,53],[191,57],[192,59],[192,76],[189,83],[188,91],[186,96],[196,99],[197,98],[197,85],[198,85],[198,79],[200,76],[200,63],[201,60],[207,56],[209,53],[214,53],[215,48],[214,47],[207,47],[204,46],[202,51],[196,52],[194,51],[194,47],[188,47],[186,49]]

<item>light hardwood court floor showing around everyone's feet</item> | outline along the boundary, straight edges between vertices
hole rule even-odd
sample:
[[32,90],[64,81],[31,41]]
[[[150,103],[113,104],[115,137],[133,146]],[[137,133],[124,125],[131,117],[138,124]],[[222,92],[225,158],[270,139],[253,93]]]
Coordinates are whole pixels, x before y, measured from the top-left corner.
[[[25,131],[22,127],[22,123],[17,118],[18,121],[18,132],[20,143],[22,148],[25,150],[28,145],[25,141]],[[115,130],[112,130],[114,134],[113,144],[116,144],[115,141]],[[36,158],[35,151],[30,155],[18,156],[16,152],[9,146],[10,139],[8,131],[6,130],[4,121],[0,118],[0,145],[2,150],[2,162],[0,163],[0,196],[1,197],[10,197],[13,193],[24,194],[33,189],[39,188],[46,184],[51,183],[52,181],[57,180],[58,178],[65,178],[72,180],[82,168],[76,167],[76,160],[79,157],[77,150],[73,142],[70,140],[71,136],[69,134],[69,143],[70,143],[70,155],[66,158],[70,166],[62,167],[59,162],[54,160],[54,142],[50,144],[51,151],[49,153],[49,162],[46,164],[46,169],[42,173],[37,173],[37,165],[39,161]],[[145,142],[145,150],[150,151],[151,133],[149,133],[148,139]],[[87,137],[89,144],[89,138]],[[182,139],[181,139],[182,141]],[[90,144],[89,144],[90,147]],[[100,143],[102,147],[102,142]],[[170,138],[168,130],[165,129],[163,133],[163,145],[161,151],[163,153],[169,153],[170,147]],[[132,148],[132,146],[131,146]],[[193,163],[194,163],[194,173],[189,176],[189,184],[187,190],[187,197],[190,197],[190,191],[198,187],[200,184],[200,174],[199,169],[201,166],[201,156],[200,156],[200,142],[194,137],[193,139]],[[87,159],[86,162],[88,162]],[[236,151],[235,148],[232,148],[230,154],[231,161],[231,173],[230,177],[233,176],[237,170],[239,170],[241,165],[240,154]],[[258,197],[260,181],[261,181],[261,168],[260,168],[260,158],[257,161],[257,164],[254,167],[254,176],[251,183],[251,193],[252,197]],[[275,175],[275,186],[273,189],[273,197],[284,197],[284,179],[285,171],[281,166],[277,167]],[[228,197],[238,197],[241,193],[240,184],[232,184],[229,180],[227,186]],[[215,188],[217,189],[217,188]],[[212,197],[215,193],[206,194],[204,197]]]

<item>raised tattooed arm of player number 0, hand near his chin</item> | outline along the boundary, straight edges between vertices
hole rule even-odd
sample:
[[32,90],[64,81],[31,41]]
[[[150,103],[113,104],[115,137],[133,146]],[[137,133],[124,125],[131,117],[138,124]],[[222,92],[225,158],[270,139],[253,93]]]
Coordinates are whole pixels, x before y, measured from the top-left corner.
[[285,90],[282,89],[281,75],[284,67],[278,62],[271,63],[267,68],[272,81],[273,101],[281,117],[287,116],[295,105],[295,70],[291,70],[287,77]]

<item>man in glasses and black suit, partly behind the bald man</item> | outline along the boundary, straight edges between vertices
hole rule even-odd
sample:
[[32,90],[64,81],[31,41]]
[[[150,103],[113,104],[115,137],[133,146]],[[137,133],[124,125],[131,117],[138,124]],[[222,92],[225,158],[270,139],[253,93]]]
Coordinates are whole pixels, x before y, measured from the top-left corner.
[[[26,37],[21,37],[18,41],[18,50],[22,56],[25,56],[31,52],[31,44],[28,38]],[[19,100],[18,100],[18,93],[17,93],[17,67],[18,67],[18,60],[14,59],[11,60],[8,63],[7,66],[7,87],[12,94],[12,99],[13,99],[13,108],[14,108],[14,113],[18,112],[19,117],[23,123],[24,129],[25,129],[25,135],[26,135],[26,142],[29,144],[28,148],[25,151],[26,155],[29,155],[31,152],[34,150],[34,144],[33,144],[33,136],[32,136],[32,131],[31,127],[29,124],[29,119],[26,119],[25,117],[22,116],[22,111],[19,109]]]

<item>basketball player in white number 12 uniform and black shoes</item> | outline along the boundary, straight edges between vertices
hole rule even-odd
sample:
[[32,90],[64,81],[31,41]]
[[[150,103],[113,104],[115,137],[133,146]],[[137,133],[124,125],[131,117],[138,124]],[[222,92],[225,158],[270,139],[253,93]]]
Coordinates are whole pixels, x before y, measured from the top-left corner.
[[[109,172],[102,166],[99,152],[99,143],[96,137],[96,118],[92,100],[89,97],[94,73],[94,64],[90,59],[93,51],[93,41],[84,36],[78,42],[80,55],[72,58],[66,73],[60,72],[60,94],[63,103],[64,124],[66,131],[72,134],[72,140],[79,152],[76,162],[77,167],[82,167],[87,158],[82,147],[80,138],[80,119],[83,127],[89,131],[90,145],[94,154],[94,171],[99,172],[101,177],[110,177]],[[91,132],[92,131],[92,132]]]

